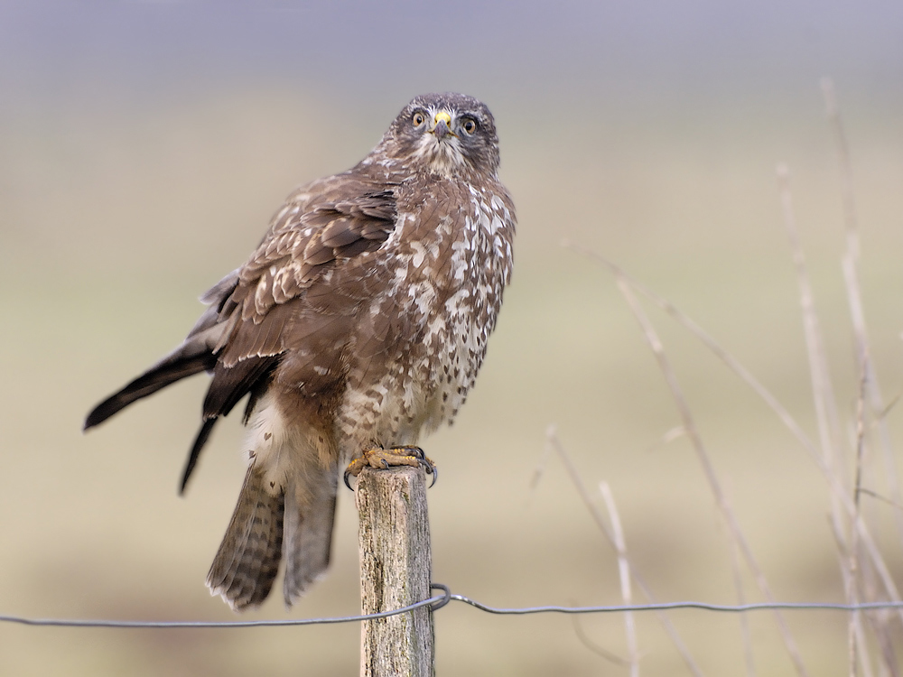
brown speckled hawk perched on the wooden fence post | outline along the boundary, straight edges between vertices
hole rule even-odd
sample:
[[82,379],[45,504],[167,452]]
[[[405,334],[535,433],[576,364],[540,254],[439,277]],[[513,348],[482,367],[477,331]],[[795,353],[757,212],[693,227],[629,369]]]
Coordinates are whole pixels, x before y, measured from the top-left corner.
[[182,489],[248,395],[247,474],[211,594],[259,605],[284,561],[292,605],[326,569],[341,468],[412,465],[473,385],[511,276],[514,205],[489,108],[415,97],[357,165],[296,190],[260,246],[201,301],[178,348],[85,429],[185,376],[212,376]]

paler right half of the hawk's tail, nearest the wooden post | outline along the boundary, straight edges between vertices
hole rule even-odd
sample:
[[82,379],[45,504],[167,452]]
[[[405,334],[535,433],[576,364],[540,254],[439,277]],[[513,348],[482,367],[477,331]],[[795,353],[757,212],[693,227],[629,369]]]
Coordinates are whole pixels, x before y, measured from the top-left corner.
[[319,579],[330,564],[332,526],[335,522],[338,467],[309,470],[302,487],[285,494],[286,606]]

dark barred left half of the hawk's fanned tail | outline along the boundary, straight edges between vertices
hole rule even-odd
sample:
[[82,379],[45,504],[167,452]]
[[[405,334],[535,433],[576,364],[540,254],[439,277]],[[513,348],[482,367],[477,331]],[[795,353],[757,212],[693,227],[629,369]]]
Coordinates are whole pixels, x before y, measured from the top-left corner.
[[239,611],[256,607],[273,587],[283,544],[284,495],[265,490],[251,464],[226,535],[207,575],[211,595]]

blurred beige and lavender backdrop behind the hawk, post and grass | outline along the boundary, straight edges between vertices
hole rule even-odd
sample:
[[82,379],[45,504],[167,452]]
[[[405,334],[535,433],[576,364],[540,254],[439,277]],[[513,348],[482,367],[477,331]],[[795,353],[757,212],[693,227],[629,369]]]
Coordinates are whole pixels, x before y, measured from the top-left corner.
[[[903,5],[714,0],[81,2],[0,5],[0,614],[230,619],[203,585],[243,477],[237,416],[176,488],[204,377],[83,436],[85,413],[169,351],[293,188],[358,162],[416,94],[459,90],[498,123],[519,216],[514,283],[478,385],[424,447],[434,580],[498,606],[617,604],[617,562],[558,459],[619,505],[659,600],[732,603],[731,543],[622,265],[708,329],[816,438],[775,168],[786,162],[842,421],[856,364],[840,270],[833,78],[852,152],[862,292],[886,400],[903,392]],[[649,309],[777,598],[843,598],[824,478],[768,408]],[[886,416],[899,440],[901,413]],[[871,463],[872,459],[869,459]],[[886,472],[865,478],[886,491]],[[877,465],[876,465],[877,464]],[[872,501],[898,585],[894,508]],[[357,515],[340,493],[330,576],[291,611],[358,610]],[[883,525],[883,526],[882,526]],[[750,600],[760,596],[748,573]],[[639,599],[639,598],[638,598]],[[640,599],[641,600],[641,599]],[[702,672],[740,674],[739,619],[670,615]],[[810,672],[842,675],[846,619],[789,612]],[[767,612],[759,674],[794,669]],[[688,673],[651,615],[646,674]],[[903,630],[892,626],[900,642]],[[619,674],[623,617],[436,618],[442,675]],[[0,626],[8,675],[354,674],[357,625],[241,630]]]

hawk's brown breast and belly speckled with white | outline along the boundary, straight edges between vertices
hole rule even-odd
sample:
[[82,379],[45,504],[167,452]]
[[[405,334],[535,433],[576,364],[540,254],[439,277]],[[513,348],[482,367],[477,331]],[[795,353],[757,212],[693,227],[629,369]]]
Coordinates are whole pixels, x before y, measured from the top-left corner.
[[365,348],[352,358],[338,420],[347,453],[414,444],[451,422],[495,327],[512,265],[507,192],[448,180],[430,188],[419,201],[400,191],[385,292],[358,322]]

